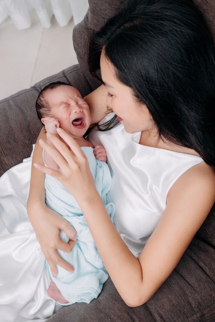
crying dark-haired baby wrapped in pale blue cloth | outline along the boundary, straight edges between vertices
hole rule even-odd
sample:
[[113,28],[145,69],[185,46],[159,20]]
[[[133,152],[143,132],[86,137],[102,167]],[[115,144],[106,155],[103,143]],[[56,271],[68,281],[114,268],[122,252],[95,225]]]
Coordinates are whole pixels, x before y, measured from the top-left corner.
[[[90,126],[91,115],[89,106],[79,90],[63,82],[51,83],[40,92],[36,101],[36,111],[46,132],[58,136],[56,128],[61,127],[78,142],[89,161],[96,189],[112,218],[114,205],[108,204],[106,200],[111,187],[111,175],[105,163],[106,151],[103,146],[93,148],[83,137]],[[48,138],[47,142],[51,145]],[[45,166],[59,169],[46,151],[43,157]],[[108,278],[107,271],[74,197],[50,175],[45,176],[45,191],[46,205],[61,214],[77,232],[77,242],[70,253],[58,250],[61,257],[73,265],[74,273],[58,266],[58,275],[55,277],[47,261],[45,262],[45,270],[51,282],[48,295],[64,305],[75,302],[89,303],[101,292],[103,283]],[[63,231],[60,236],[64,242],[69,241]]]

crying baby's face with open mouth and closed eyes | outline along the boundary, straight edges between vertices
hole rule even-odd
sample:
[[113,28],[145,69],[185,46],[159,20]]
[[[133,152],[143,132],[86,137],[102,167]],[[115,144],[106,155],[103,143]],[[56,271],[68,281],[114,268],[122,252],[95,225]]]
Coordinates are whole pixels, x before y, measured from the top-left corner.
[[81,93],[75,87],[60,85],[47,90],[45,100],[51,107],[51,114],[58,119],[60,128],[74,138],[84,135],[91,123],[90,109]]

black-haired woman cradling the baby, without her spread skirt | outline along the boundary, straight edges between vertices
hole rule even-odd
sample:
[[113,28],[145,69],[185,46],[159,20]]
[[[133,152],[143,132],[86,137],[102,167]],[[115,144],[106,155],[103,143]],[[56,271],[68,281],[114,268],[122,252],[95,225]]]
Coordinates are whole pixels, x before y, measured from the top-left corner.
[[[102,86],[85,98],[93,123],[108,105],[123,125],[91,134],[107,151],[117,229],[84,156],[63,130],[58,133],[73,153],[55,137],[50,140],[59,153],[40,141],[60,170],[39,165],[38,144],[33,162],[74,195],[119,294],[127,305],[139,306],[171,274],[215,201],[213,42],[192,1],[135,1],[95,35],[92,48],[91,68],[99,67],[100,58],[107,90]],[[107,104],[101,103],[105,93]],[[59,232],[70,238],[75,232],[45,207],[43,178],[32,171],[28,213],[56,274],[55,264],[72,270],[56,248],[71,251],[73,242],[63,243]]]

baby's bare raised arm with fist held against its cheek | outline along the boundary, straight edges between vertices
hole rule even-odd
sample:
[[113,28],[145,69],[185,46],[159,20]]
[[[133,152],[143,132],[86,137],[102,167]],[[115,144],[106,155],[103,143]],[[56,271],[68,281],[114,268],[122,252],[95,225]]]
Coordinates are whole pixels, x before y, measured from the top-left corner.
[[[59,137],[57,134],[56,128],[59,128],[59,122],[56,118],[43,118],[42,119],[46,133],[51,133]],[[54,145],[51,143],[48,137],[46,137],[46,142],[51,146],[54,147]],[[54,147],[55,148],[55,147]],[[44,150],[43,152],[43,158],[44,158],[44,163],[46,166],[49,168],[52,168],[54,170],[59,170],[59,166],[57,163],[53,160],[53,158]]]

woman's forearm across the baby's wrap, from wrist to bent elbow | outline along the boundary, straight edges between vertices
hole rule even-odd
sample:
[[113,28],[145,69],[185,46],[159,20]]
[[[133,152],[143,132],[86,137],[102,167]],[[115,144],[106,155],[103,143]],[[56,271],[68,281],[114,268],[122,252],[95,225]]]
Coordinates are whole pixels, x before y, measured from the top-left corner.
[[139,297],[144,302],[140,262],[123,242],[99,194],[93,195],[80,203],[84,218],[116,289],[127,305],[136,306],[133,303],[138,303]]

